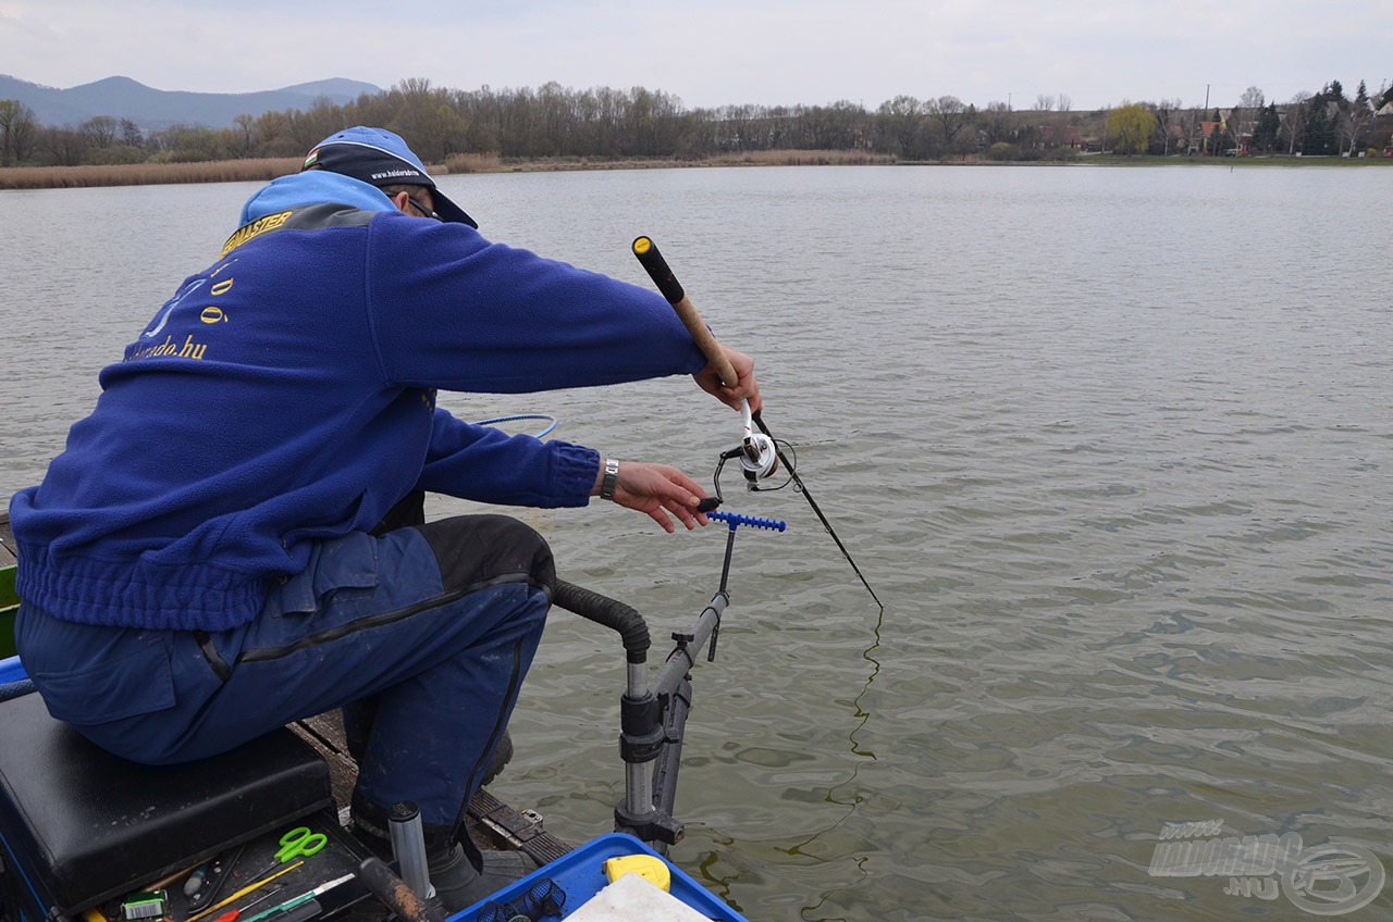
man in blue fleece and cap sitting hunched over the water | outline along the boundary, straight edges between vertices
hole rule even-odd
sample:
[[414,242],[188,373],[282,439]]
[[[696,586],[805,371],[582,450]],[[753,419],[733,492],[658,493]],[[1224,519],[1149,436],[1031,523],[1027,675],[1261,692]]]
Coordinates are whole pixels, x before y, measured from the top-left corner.
[[54,717],[148,763],[345,708],[357,826],[383,834],[415,801],[446,907],[468,905],[510,876],[462,819],[554,570],[513,518],[400,510],[426,490],[600,496],[671,532],[670,517],[705,524],[705,492],[461,422],[436,389],[692,373],[758,408],[754,362],[727,357],[736,387],[657,294],[486,241],[401,138],[338,132],[247,202],[217,259],[102,370],[43,483],[11,500],[25,666]]

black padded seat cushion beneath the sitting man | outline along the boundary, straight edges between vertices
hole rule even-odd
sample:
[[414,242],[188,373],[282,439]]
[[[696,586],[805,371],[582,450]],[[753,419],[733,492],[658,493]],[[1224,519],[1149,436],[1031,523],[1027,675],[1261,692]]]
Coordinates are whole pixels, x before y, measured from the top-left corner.
[[0,837],[68,915],[330,805],[327,765],[290,730],[150,767],[54,720],[39,695],[0,703]]

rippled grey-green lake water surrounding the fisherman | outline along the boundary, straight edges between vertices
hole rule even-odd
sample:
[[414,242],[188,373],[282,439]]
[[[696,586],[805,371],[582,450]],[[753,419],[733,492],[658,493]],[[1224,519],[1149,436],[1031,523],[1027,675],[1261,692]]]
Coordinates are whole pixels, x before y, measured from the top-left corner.
[[[651,234],[717,336],[758,358],[769,426],[886,603],[802,497],[730,482],[729,507],[790,531],[738,535],[674,858],[751,919],[1293,919],[1319,903],[1294,879],[1265,890],[1275,875],[1244,890],[1231,868],[1152,873],[1185,822],[1393,868],[1393,170],[444,185],[490,238],[638,283],[628,245]],[[254,189],[0,194],[0,493],[42,476],[95,370]],[[559,437],[702,482],[738,435],[685,379],[442,403],[550,412]],[[520,514],[564,577],[657,638],[716,588],[720,528]],[[553,613],[496,791],[566,838],[610,829],[623,678],[617,638]],[[1348,918],[1390,907],[1393,886]]]

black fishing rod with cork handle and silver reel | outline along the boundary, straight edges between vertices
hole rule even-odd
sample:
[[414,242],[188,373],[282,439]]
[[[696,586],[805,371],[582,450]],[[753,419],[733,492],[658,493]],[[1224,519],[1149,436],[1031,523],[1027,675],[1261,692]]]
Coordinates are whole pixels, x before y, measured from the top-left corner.
[[[710,329],[702,323],[701,315],[696,313],[696,306],[692,304],[691,298],[687,297],[681,283],[677,281],[673,270],[667,266],[667,260],[663,259],[660,252],[657,252],[657,244],[655,244],[651,237],[638,237],[634,240],[634,255],[638,258],[638,262],[644,266],[644,269],[648,270],[649,277],[653,280],[653,284],[657,286],[662,295],[667,298],[667,304],[673,305],[673,311],[677,312],[678,318],[681,318],[683,326],[685,326],[687,331],[691,333],[698,348],[701,348],[702,355],[706,357],[706,361],[710,362],[710,366],[716,370],[720,382],[726,387],[734,387],[738,383],[734,366],[730,364],[730,359],[726,358],[720,344],[716,343],[716,337],[712,334]],[[715,501],[702,500],[702,504],[698,506],[698,508],[702,513],[709,513],[720,504],[720,471],[727,460],[740,458],[740,465],[745,475],[745,486],[749,490],[769,490],[770,487],[759,486],[759,480],[773,476],[779,471],[779,465],[783,465],[788,471],[788,479],[794,483],[794,489],[798,493],[802,493],[804,499],[808,500],[808,506],[812,507],[818,521],[820,521],[822,526],[827,529],[829,535],[832,535],[832,540],[837,543],[837,550],[840,550],[841,556],[846,557],[848,564],[851,564],[851,570],[854,570],[857,578],[861,579],[861,585],[866,588],[866,592],[871,593],[871,597],[883,613],[885,604],[880,602],[880,597],[875,593],[875,589],[871,588],[871,584],[861,572],[861,567],[857,565],[857,561],[851,557],[851,552],[847,550],[847,546],[841,543],[841,539],[832,528],[832,522],[827,521],[827,517],[823,515],[816,500],[812,499],[812,493],[808,492],[808,486],[802,482],[802,478],[798,476],[798,469],[794,464],[797,458],[794,457],[790,460],[790,455],[794,454],[793,446],[787,442],[781,443],[775,439],[773,433],[769,432],[769,426],[765,425],[762,418],[763,411],[756,409],[751,412],[748,400],[741,401],[740,412],[744,423],[741,443],[738,447],[722,453],[720,461],[716,465]],[[755,432],[756,426],[759,429],[758,432]],[[780,444],[788,448],[788,454],[784,453]],[[787,482],[772,489],[781,489],[783,486],[787,486]]]

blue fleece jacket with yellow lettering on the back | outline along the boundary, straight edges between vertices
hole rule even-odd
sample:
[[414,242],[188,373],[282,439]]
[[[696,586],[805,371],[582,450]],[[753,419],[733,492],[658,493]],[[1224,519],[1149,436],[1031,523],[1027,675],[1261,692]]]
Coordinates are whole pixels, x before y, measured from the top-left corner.
[[599,457],[461,422],[520,393],[705,365],[657,294],[397,212],[332,173],[260,189],[10,503],[20,595],[70,621],[220,631],[313,542],[412,489],[584,506]]

